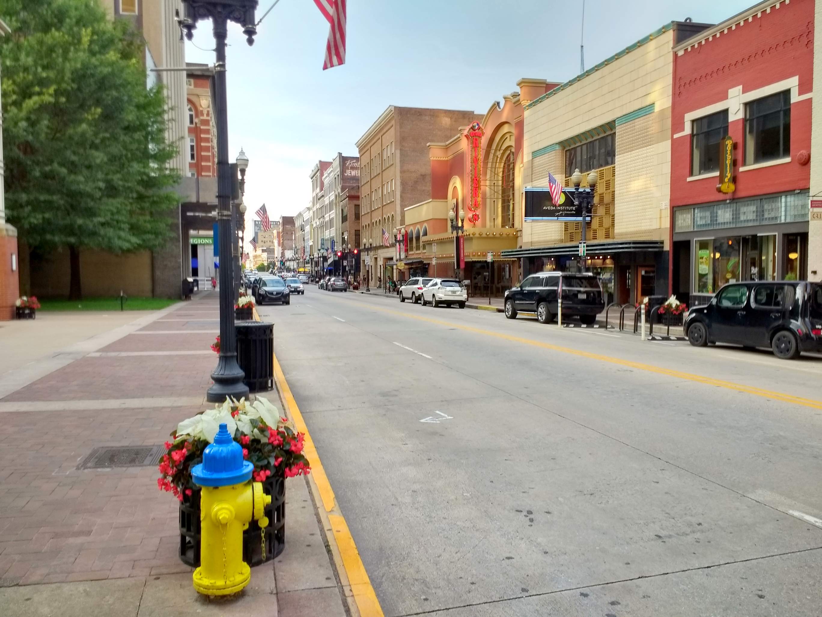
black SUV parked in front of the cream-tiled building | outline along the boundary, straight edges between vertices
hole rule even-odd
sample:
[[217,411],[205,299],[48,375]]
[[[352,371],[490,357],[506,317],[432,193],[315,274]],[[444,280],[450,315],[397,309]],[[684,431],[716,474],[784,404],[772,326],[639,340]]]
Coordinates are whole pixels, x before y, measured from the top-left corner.
[[540,323],[551,323],[558,312],[558,290],[562,288],[562,316],[578,317],[592,324],[605,309],[603,288],[593,274],[539,272],[528,276],[519,287],[506,291],[506,317],[517,313],[537,313]]

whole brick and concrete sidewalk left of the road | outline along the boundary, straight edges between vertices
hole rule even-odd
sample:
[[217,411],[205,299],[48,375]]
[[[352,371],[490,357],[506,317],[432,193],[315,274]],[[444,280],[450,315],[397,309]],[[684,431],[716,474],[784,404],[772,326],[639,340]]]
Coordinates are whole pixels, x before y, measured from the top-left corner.
[[0,374],[0,614],[347,615],[305,478],[287,480],[284,553],[233,601],[208,601],[155,466],[77,468],[94,448],[161,444],[210,407],[218,319],[205,292]]

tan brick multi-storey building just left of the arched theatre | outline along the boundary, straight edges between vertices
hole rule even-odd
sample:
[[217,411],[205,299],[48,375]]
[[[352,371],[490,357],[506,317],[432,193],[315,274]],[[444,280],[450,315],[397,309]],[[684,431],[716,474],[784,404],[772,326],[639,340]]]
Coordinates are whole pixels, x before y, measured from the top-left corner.
[[[473,111],[390,105],[357,141],[361,271],[371,285],[396,279],[395,229],[404,210],[431,198],[431,141],[446,141],[482,116]],[[388,239],[386,242],[385,235]]]

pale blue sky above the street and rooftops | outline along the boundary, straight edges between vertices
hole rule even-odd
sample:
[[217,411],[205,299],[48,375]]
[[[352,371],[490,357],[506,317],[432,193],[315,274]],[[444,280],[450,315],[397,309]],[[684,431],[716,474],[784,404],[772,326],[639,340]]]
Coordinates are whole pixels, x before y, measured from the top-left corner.
[[[260,0],[257,19],[274,0]],[[753,0],[585,0],[585,68],[669,21],[718,23]],[[247,229],[263,203],[272,220],[308,205],[318,160],[357,155],[389,105],[484,114],[522,77],[580,72],[583,0],[348,0],[345,64],[322,70],[328,23],[312,0],[280,0],[248,47],[229,28],[229,154],[242,147]],[[209,21],[186,60],[214,63]],[[253,229],[253,227],[251,227]]]

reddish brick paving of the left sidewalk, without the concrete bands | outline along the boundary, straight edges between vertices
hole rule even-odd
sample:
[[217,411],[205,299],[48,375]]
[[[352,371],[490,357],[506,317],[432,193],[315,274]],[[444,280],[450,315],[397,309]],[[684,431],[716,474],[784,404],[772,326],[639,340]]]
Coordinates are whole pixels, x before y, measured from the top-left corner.
[[[100,349],[207,350],[216,295],[196,299]],[[161,318],[162,319],[162,318]],[[188,319],[188,321],[185,321]],[[185,333],[185,331],[194,331]],[[12,350],[13,352],[13,350]],[[190,572],[178,559],[178,506],[157,489],[154,466],[78,470],[93,448],[154,446],[205,407],[163,397],[205,395],[214,355],[85,356],[3,398],[0,434],[0,587]],[[26,401],[157,398],[157,406],[26,411]]]

